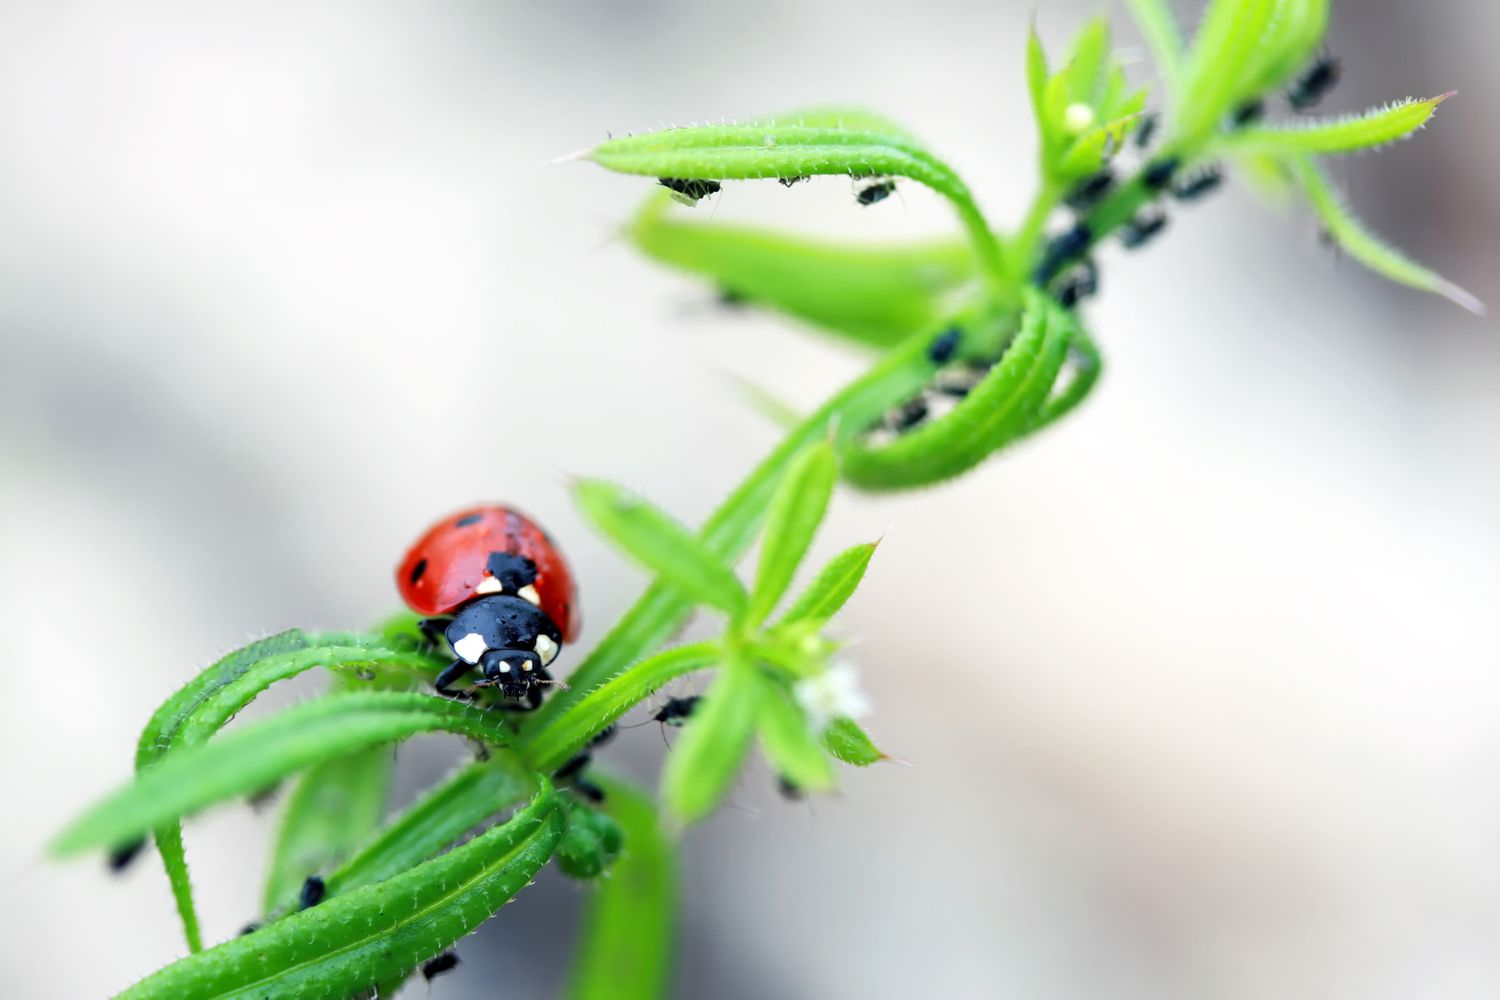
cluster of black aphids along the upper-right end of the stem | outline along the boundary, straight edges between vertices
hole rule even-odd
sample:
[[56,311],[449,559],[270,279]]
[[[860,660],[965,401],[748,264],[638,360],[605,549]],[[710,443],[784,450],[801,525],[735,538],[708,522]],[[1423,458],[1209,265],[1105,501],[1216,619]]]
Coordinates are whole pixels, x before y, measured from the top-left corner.
[[[1320,55],[1292,87],[1286,100],[1293,111],[1306,111],[1317,105],[1334,88],[1340,78],[1340,63],[1329,55]],[[1246,127],[1266,114],[1266,99],[1256,97],[1240,103],[1230,114],[1234,127]],[[1148,156],[1156,135],[1160,115],[1148,112],[1136,126],[1136,148]],[[1126,250],[1138,249],[1167,228],[1166,201],[1191,202],[1218,190],[1224,183],[1224,171],[1216,163],[1182,169],[1176,156],[1146,159],[1140,171],[1140,184],[1154,195],[1134,217],[1119,226],[1119,241]],[[1052,292],[1053,298],[1072,309],[1084,298],[1100,291],[1100,270],[1089,250],[1095,232],[1089,226],[1089,213],[1100,205],[1116,186],[1114,168],[1106,163],[1101,171],[1082,181],[1064,196],[1064,204],[1072,211],[1072,225],[1050,237],[1042,247],[1041,261],[1032,271],[1032,282]]]

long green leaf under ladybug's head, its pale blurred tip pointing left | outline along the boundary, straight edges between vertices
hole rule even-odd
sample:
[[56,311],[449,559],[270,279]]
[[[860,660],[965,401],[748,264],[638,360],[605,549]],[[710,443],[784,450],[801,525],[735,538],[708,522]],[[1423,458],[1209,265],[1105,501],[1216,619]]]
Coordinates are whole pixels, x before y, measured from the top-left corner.
[[52,853],[123,844],[321,760],[426,732],[459,733],[495,745],[510,738],[498,714],[430,694],[328,696],[171,754],[69,825],[52,843]]

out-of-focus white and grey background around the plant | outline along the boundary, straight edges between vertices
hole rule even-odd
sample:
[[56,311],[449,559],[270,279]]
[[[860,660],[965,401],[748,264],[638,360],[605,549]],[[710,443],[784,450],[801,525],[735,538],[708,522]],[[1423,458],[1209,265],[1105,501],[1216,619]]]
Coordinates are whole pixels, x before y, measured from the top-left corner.
[[[1461,91],[1340,168],[1353,201],[1500,300],[1500,9],[1336,7],[1329,108]],[[1092,9],[1036,16],[1058,48]],[[564,474],[696,520],[776,438],[726,372],[810,405],[856,370],[636,259],[614,232],[644,181],[549,159],[858,100],[1011,220],[1030,16],[0,6],[0,993],[105,996],[183,951],[154,858],[110,880],[40,846],[218,652],[392,610],[404,546],[480,498],[564,540],[586,645],[642,580]],[[698,211],[950,228],[902,190],[861,211],[834,180],[735,184]],[[1500,994],[1494,324],[1244,192],[1112,253],[1089,315],[1110,367],[1060,429],[951,487],[838,498],[819,555],[892,526],[842,625],[914,766],[790,807],[753,769],[687,838],[680,996]],[[402,793],[456,753],[408,750]],[[660,753],[644,727],[610,756]],[[270,823],[189,828],[210,937],[254,916]],[[549,996],[579,901],[546,876],[434,996]]]

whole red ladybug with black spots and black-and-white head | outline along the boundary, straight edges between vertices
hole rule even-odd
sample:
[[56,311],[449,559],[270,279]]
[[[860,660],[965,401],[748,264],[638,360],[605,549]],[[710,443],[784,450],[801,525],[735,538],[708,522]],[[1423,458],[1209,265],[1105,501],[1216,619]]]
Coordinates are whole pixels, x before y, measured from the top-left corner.
[[519,708],[542,705],[555,684],[548,664],[579,631],[573,573],[548,532],[525,514],[488,504],[444,517],[396,568],[406,606],[453,663],[434,681],[438,694],[471,670]]

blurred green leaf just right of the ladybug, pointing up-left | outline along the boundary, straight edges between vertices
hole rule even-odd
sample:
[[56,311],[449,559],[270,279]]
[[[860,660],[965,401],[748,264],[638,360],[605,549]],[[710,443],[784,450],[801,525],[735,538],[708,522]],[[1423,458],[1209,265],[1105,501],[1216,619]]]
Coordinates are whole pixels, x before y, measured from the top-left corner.
[[594,528],[636,562],[694,601],[712,604],[730,618],[744,615],[748,597],[734,571],[672,517],[602,480],[574,483],[573,499]]

